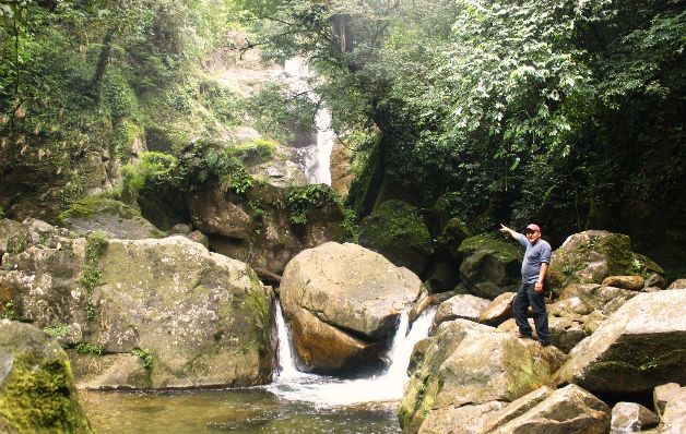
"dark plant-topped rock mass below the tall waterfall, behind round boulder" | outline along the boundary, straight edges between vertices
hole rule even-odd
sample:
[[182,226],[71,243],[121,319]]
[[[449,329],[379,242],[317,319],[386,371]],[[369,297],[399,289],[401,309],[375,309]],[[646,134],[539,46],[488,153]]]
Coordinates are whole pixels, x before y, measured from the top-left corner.
[[283,205],[286,193],[285,188],[255,183],[244,194],[221,188],[188,193],[186,202],[212,251],[281,276],[300,251],[344,236],[343,208],[332,196],[323,195],[317,204],[305,201],[300,207],[307,221],[296,225],[294,212]]

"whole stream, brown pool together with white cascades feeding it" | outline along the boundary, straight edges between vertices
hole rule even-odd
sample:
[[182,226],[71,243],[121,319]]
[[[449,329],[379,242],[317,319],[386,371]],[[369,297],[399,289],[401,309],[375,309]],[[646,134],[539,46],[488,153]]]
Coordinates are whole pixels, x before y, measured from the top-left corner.
[[184,391],[81,391],[97,433],[400,433],[398,401],[416,341],[426,337],[435,310],[409,327],[403,314],[387,372],[341,379],[295,369],[288,331],[277,306],[280,372],[262,387]]

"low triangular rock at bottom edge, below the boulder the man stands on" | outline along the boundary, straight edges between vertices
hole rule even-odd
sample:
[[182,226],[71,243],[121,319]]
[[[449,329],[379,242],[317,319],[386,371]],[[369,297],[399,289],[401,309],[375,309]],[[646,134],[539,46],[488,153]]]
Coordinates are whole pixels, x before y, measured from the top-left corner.
[[610,431],[610,408],[582,388],[568,385],[522,415],[496,427],[493,434],[582,433]]

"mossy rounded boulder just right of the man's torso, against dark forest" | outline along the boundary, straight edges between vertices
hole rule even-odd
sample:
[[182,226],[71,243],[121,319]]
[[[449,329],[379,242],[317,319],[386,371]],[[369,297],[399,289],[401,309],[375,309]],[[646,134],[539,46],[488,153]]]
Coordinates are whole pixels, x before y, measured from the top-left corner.
[[548,276],[559,293],[571,284],[601,284],[608,276],[663,275],[660,266],[631,250],[631,240],[622,233],[587,230],[569,237],[553,252]]

